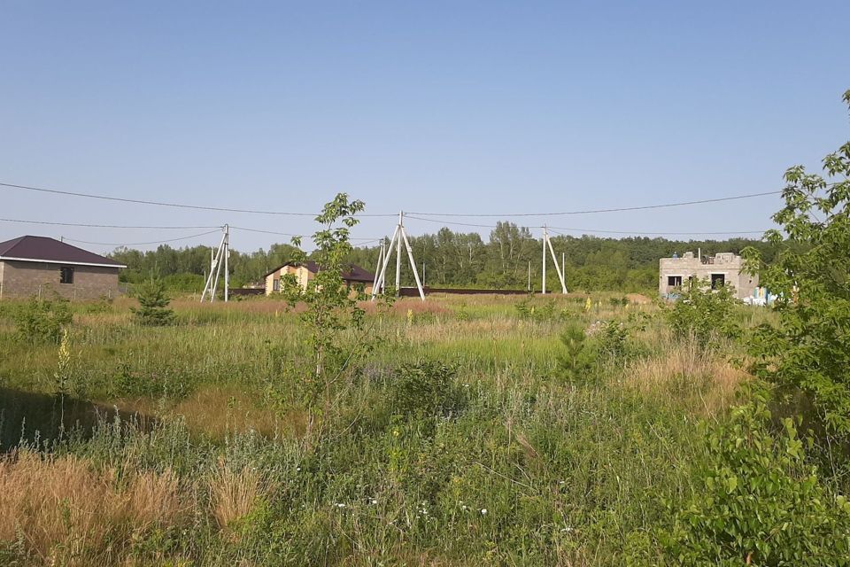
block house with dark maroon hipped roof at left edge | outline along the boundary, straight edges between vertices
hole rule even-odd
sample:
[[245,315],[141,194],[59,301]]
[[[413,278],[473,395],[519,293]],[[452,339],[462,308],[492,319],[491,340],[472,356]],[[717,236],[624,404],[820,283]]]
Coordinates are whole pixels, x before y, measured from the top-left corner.
[[97,299],[118,294],[118,271],[127,268],[48,237],[0,242],[0,299],[55,291],[67,299]]

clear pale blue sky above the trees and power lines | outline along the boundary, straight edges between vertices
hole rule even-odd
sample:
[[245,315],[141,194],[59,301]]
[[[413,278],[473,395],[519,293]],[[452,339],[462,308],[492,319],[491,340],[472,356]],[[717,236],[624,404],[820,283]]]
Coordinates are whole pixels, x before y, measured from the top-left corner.
[[[298,212],[346,191],[369,213],[535,213],[779,190],[786,167],[819,169],[850,135],[840,101],[848,21],[846,1],[2,1],[0,182]],[[516,221],[756,230],[778,206],[763,197]],[[313,231],[310,219],[2,188],[0,217]],[[393,225],[368,218],[355,232],[380,237]],[[441,225],[407,226],[416,235]],[[197,232],[0,222],[0,240]],[[239,250],[285,240],[231,238]]]

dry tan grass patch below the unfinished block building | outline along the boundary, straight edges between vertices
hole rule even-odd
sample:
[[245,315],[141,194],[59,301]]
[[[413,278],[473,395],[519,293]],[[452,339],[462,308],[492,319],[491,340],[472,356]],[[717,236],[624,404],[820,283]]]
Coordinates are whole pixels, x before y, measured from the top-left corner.
[[631,363],[624,384],[644,394],[700,400],[701,408],[694,409],[714,416],[729,407],[738,384],[748,377],[723,353],[707,352],[686,341],[668,346],[660,358]]

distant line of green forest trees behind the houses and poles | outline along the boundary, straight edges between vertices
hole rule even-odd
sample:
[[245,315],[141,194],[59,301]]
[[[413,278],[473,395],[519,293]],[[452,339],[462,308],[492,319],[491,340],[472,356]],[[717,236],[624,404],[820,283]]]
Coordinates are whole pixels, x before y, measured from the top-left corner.
[[[411,237],[413,255],[424,266],[425,284],[432,287],[480,287],[489,289],[526,289],[529,262],[531,285],[540,289],[542,245],[529,229],[512,222],[498,222],[486,241],[477,232],[440,229],[436,234]],[[658,260],[674,252],[740,252],[746,246],[760,249],[765,260],[774,251],[767,243],[746,238],[729,240],[681,241],[650,237],[568,237],[553,236],[552,244],[560,261],[566,259],[567,288],[570,291],[638,291],[657,289]],[[259,283],[270,270],[290,260],[296,249],[274,244],[268,250],[230,252],[231,284],[234,287]],[[375,270],[380,246],[355,248],[352,263]],[[175,249],[161,245],[141,252],[120,248],[110,254],[127,264],[123,281],[138,283],[151,276],[165,279],[175,291],[200,291],[210,267],[210,246]],[[403,285],[413,285],[413,273],[402,263]],[[547,288],[560,288],[551,257],[547,259]],[[395,258],[391,262],[394,277]],[[390,279],[390,283],[392,280]]]

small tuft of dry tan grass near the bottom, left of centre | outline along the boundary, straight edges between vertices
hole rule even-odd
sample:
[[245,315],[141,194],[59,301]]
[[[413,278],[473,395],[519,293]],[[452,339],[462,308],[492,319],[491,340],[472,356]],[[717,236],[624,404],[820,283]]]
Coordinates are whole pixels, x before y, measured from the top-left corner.
[[209,480],[213,517],[224,529],[248,515],[265,491],[259,472],[249,467],[236,472],[219,463]]

